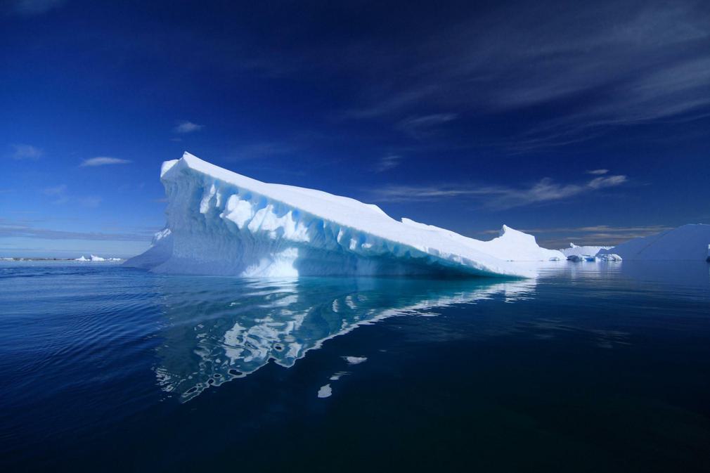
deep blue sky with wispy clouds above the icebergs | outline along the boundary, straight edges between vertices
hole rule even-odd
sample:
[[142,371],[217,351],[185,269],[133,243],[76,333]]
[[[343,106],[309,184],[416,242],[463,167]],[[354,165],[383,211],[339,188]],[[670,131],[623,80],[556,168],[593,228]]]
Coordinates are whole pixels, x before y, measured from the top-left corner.
[[0,5],[0,256],[142,251],[182,151],[486,239],[710,222],[707,1]]

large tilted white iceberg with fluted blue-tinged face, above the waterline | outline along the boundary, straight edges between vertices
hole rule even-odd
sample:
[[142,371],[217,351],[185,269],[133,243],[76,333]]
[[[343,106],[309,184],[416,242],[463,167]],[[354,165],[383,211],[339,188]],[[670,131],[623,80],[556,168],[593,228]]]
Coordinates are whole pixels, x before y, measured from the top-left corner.
[[479,241],[320,190],[262,183],[185,153],[163,163],[165,229],[126,262],[160,273],[236,276],[534,276],[510,261],[558,259],[503,227]]

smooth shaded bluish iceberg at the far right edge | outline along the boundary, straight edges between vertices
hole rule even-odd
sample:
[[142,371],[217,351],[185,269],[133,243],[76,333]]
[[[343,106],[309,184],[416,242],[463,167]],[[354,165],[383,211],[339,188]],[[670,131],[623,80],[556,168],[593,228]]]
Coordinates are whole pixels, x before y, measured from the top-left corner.
[[710,248],[710,225],[687,224],[649,237],[635,238],[601,249],[599,256],[616,254],[629,260],[706,261]]

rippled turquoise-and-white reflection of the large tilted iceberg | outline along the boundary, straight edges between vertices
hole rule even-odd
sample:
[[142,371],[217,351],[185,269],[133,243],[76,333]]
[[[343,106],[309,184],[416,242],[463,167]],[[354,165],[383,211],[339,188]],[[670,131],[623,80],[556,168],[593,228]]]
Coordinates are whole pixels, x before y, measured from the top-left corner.
[[155,374],[169,396],[188,401],[270,361],[293,366],[308,350],[360,325],[437,315],[449,305],[489,298],[515,302],[529,297],[535,284],[535,279],[168,278]]

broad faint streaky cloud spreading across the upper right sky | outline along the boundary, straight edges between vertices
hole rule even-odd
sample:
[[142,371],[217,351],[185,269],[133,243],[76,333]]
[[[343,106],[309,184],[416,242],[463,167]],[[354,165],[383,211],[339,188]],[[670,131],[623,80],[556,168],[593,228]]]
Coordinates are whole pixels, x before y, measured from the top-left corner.
[[365,82],[364,104],[351,116],[396,120],[442,108],[481,116],[554,106],[510,143],[530,149],[710,112],[705,2],[572,8],[543,0],[484,10],[420,38],[408,43],[410,55],[386,45],[362,55],[366,77],[377,80]]

